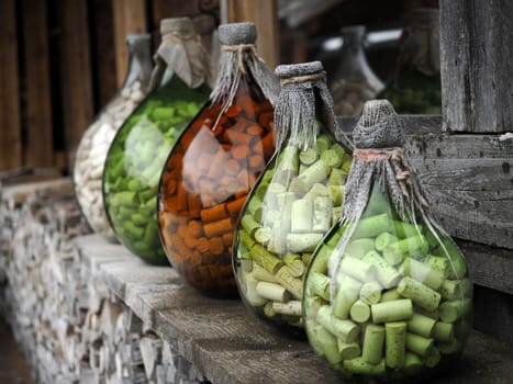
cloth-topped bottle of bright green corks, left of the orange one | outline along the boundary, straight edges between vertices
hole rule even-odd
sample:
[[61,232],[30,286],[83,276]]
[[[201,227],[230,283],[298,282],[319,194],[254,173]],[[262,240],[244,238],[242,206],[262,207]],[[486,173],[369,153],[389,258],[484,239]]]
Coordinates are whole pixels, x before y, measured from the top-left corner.
[[109,148],[103,199],[118,239],[145,261],[168,264],[157,230],[161,168],[179,135],[209,98],[210,63],[188,18],[160,23],[152,91]]

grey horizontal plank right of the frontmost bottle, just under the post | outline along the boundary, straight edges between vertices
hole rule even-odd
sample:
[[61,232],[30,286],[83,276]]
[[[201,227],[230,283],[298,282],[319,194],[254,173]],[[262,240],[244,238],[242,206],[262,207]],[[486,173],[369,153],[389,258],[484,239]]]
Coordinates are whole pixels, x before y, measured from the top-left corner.
[[416,135],[405,146],[433,212],[459,239],[513,249],[513,140]]

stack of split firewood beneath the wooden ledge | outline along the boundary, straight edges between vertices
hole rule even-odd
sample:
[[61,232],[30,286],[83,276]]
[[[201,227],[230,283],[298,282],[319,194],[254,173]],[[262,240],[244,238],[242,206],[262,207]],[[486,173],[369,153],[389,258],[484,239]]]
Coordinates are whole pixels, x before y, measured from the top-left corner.
[[38,383],[204,383],[75,249],[68,179],[0,187],[0,315]]

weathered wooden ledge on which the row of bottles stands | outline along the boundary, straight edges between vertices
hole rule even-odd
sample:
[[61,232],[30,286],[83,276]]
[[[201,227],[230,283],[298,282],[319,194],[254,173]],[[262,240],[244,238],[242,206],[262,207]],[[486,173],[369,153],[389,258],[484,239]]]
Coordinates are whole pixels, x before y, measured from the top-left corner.
[[[94,275],[210,382],[341,383],[305,340],[280,334],[241,301],[205,297],[180,284],[168,268],[160,268],[167,278],[163,273],[154,281],[150,276],[158,275],[158,268],[141,263],[122,246],[109,245],[101,252],[101,241],[98,236],[77,239],[81,257],[94,266]],[[461,361],[430,383],[506,383],[512,359],[511,348],[473,331]]]

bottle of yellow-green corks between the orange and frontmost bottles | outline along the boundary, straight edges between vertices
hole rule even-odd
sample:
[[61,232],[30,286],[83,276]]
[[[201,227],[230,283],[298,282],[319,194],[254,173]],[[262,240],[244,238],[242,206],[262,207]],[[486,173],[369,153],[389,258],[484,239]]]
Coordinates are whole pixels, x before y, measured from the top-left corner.
[[277,153],[237,225],[233,266],[254,313],[303,335],[301,297],[310,257],[338,217],[352,157],[335,138],[333,101],[320,61],[278,66]]

